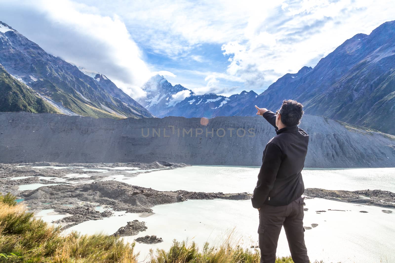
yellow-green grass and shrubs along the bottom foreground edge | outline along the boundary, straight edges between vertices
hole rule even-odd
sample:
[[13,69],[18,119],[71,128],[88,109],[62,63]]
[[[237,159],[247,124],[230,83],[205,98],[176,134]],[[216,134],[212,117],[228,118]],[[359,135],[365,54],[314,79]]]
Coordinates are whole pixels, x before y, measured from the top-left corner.
[[[116,237],[76,232],[60,235],[53,227],[33,213],[27,213],[16,197],[0,194],[0,263],[137,263],[134,243]],[[171,248],[150,251],[151,263],[259,263],[259,250],[244,250],[225,243],[216,248],[206,243],[199,250],[194,242],[174,241]],[[282,257],[276,263],[293,263]]]

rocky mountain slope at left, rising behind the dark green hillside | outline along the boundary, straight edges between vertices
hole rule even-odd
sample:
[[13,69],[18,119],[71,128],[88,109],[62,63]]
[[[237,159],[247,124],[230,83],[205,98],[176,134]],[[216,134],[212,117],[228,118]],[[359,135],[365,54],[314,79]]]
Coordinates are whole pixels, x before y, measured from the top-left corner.
[[0,25],[0,63],[47,99],[82,116],[153,117],[111,81],[100,84],[100,78],[85,75],[76,66],[47,54],[7,24]]

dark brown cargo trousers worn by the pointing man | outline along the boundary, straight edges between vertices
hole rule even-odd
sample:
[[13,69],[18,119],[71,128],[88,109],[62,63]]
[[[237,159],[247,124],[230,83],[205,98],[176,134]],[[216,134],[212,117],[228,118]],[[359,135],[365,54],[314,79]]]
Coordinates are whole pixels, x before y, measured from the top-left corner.
[[309,263],[303,228],[303,203],[300,197],[288,205],[263,204],[259,210],[259,247],[261,263],[275,263],[278,236],[282,226],[295,263]]

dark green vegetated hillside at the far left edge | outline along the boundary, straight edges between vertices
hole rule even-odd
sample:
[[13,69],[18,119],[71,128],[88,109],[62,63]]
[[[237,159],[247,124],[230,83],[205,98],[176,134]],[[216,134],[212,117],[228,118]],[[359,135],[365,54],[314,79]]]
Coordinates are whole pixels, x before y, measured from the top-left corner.
[[49,112],[59,113],[34,90],[16,80],[0,65],[0,111],[1,112]]

